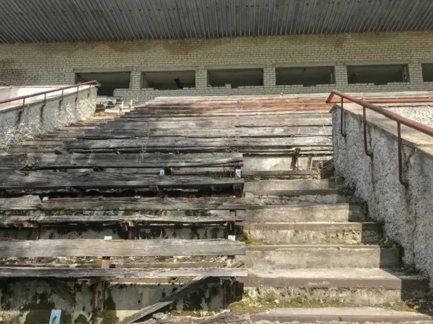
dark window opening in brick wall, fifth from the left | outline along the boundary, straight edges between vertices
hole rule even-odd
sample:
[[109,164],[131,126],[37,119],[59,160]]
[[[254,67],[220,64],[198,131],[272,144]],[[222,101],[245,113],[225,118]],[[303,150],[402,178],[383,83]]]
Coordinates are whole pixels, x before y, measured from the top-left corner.
[[408,65],[351,65],[347,67],[349,84],[374,83],[387,84],[391,82],[409,82]]

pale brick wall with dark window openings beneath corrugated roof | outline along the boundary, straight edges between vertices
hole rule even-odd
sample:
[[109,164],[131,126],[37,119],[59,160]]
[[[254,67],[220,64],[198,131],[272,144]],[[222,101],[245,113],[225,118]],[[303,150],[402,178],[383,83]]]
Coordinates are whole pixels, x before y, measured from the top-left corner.
[[[34,43],[0,45],[0,80],[11,84],[69,84],[74,69],[131,69],[131,89],[118,89],[124,100],[144,102],[170,95],[248,95],[432,90],[423,82],[421,62],[433,62],[432,32],[143,40],[112,43]],[[348,84],[346,64],[407,62],[410,82],[375,86]],[[274,67],[282,64],[333,63],[335,84],[276,86]],[[220,89],[207,86],[207,67],[263,67],[264,86]],[[148,68],[195,67],[196,88],[156,91],[140,89],[140,73]]]

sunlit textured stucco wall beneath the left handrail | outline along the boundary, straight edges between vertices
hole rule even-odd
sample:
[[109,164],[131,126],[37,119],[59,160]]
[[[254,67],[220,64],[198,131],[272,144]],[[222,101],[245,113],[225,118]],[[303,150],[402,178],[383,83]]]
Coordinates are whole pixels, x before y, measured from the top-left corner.
[[0,105],[0,151],[20,143],[25,139],[32,139],[56,128],[69,125],[91,115],[96,108],[96,89],[82,87],[65,91],[63,101],[60,93],[47,96],[44,106],[43,96],[29,99],[24,107],[22,101]]

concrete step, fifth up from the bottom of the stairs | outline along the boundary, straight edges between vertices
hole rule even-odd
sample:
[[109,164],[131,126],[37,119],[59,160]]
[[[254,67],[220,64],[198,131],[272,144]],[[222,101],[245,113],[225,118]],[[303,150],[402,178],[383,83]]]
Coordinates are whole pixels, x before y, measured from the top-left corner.
[[246,222],[359,222],[365,220],[358,204],[250,205],[236,211]]

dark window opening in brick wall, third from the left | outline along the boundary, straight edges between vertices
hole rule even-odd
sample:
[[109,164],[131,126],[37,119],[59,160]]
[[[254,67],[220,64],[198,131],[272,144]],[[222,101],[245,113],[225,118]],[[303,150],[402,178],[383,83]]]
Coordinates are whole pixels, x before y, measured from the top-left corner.
[[209,86],[263,86],[263,69],[214,69],[208,70]]

